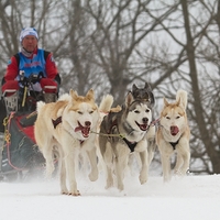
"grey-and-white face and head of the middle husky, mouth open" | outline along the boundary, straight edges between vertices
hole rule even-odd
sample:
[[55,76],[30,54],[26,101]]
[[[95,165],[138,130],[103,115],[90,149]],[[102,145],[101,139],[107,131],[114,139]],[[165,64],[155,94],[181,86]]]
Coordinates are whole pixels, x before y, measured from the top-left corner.
[[125,120],[135,131],[147,131],[152,122],[152,109],[148,101],[134,99],[132,92],[125,98]]

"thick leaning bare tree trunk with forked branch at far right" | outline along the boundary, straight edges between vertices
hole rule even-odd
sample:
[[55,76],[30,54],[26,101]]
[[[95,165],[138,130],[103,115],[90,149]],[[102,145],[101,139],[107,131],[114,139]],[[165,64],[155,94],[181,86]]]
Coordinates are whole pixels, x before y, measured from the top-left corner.
[[[209,24],[213,21],[213,15],[211,14],[206,25],[202,25],[201,30],[196,33],[196,37],[193,36],[191,33],[191,25],[189,20],[189,11],[188,11],[188,3],[187,1],[182,0],[182,8],[184,14],[184,22],[185,22],[185,31],[186,31],[186,52],[188,57],[189,64],[189,77],[191,79],[191,96],[194,100],[191,101],[194,106],[194,112],[191,112],[193,119],[195,120],[198,132],[199,139],[201,140],[202,144],[206,147],[206,153],[208,154],[211,161],[211,169],[208,169],[209,173],[220,173],[220,151],[218,144],[220,143],[220,139],[215,135],[215,131],[218,131],[218,127],[215,125],[215,120],[217,119],[218,111],[210,105],[207,105],[209,100],[204,101],[206,99],[206,94],[201,90],[202,87],[199,86],[199,77],[198,77],[198,69],[197,69],[197,57],[196,50],[198,43],[201,41],[202,37],[206,36],[207,29]],[[200,25],[200,26],[201,26]],[[219,88],[215,91],[215,96],[219,94]],[[210,92],[210,90],[209,90]],[[211,98],[211,97],[210,97]],[[213,109],[212,109],[213,108]],[[209,113],[211,112],[211,114]],[[195,127],[195,125],[194,125]],[[193,132],[194,133],[194,132]],[[213,138],[215,136],[215,138]],[[216,139],[216,140],[215,140]],[[207,167],[208,168],[208,167]]]

